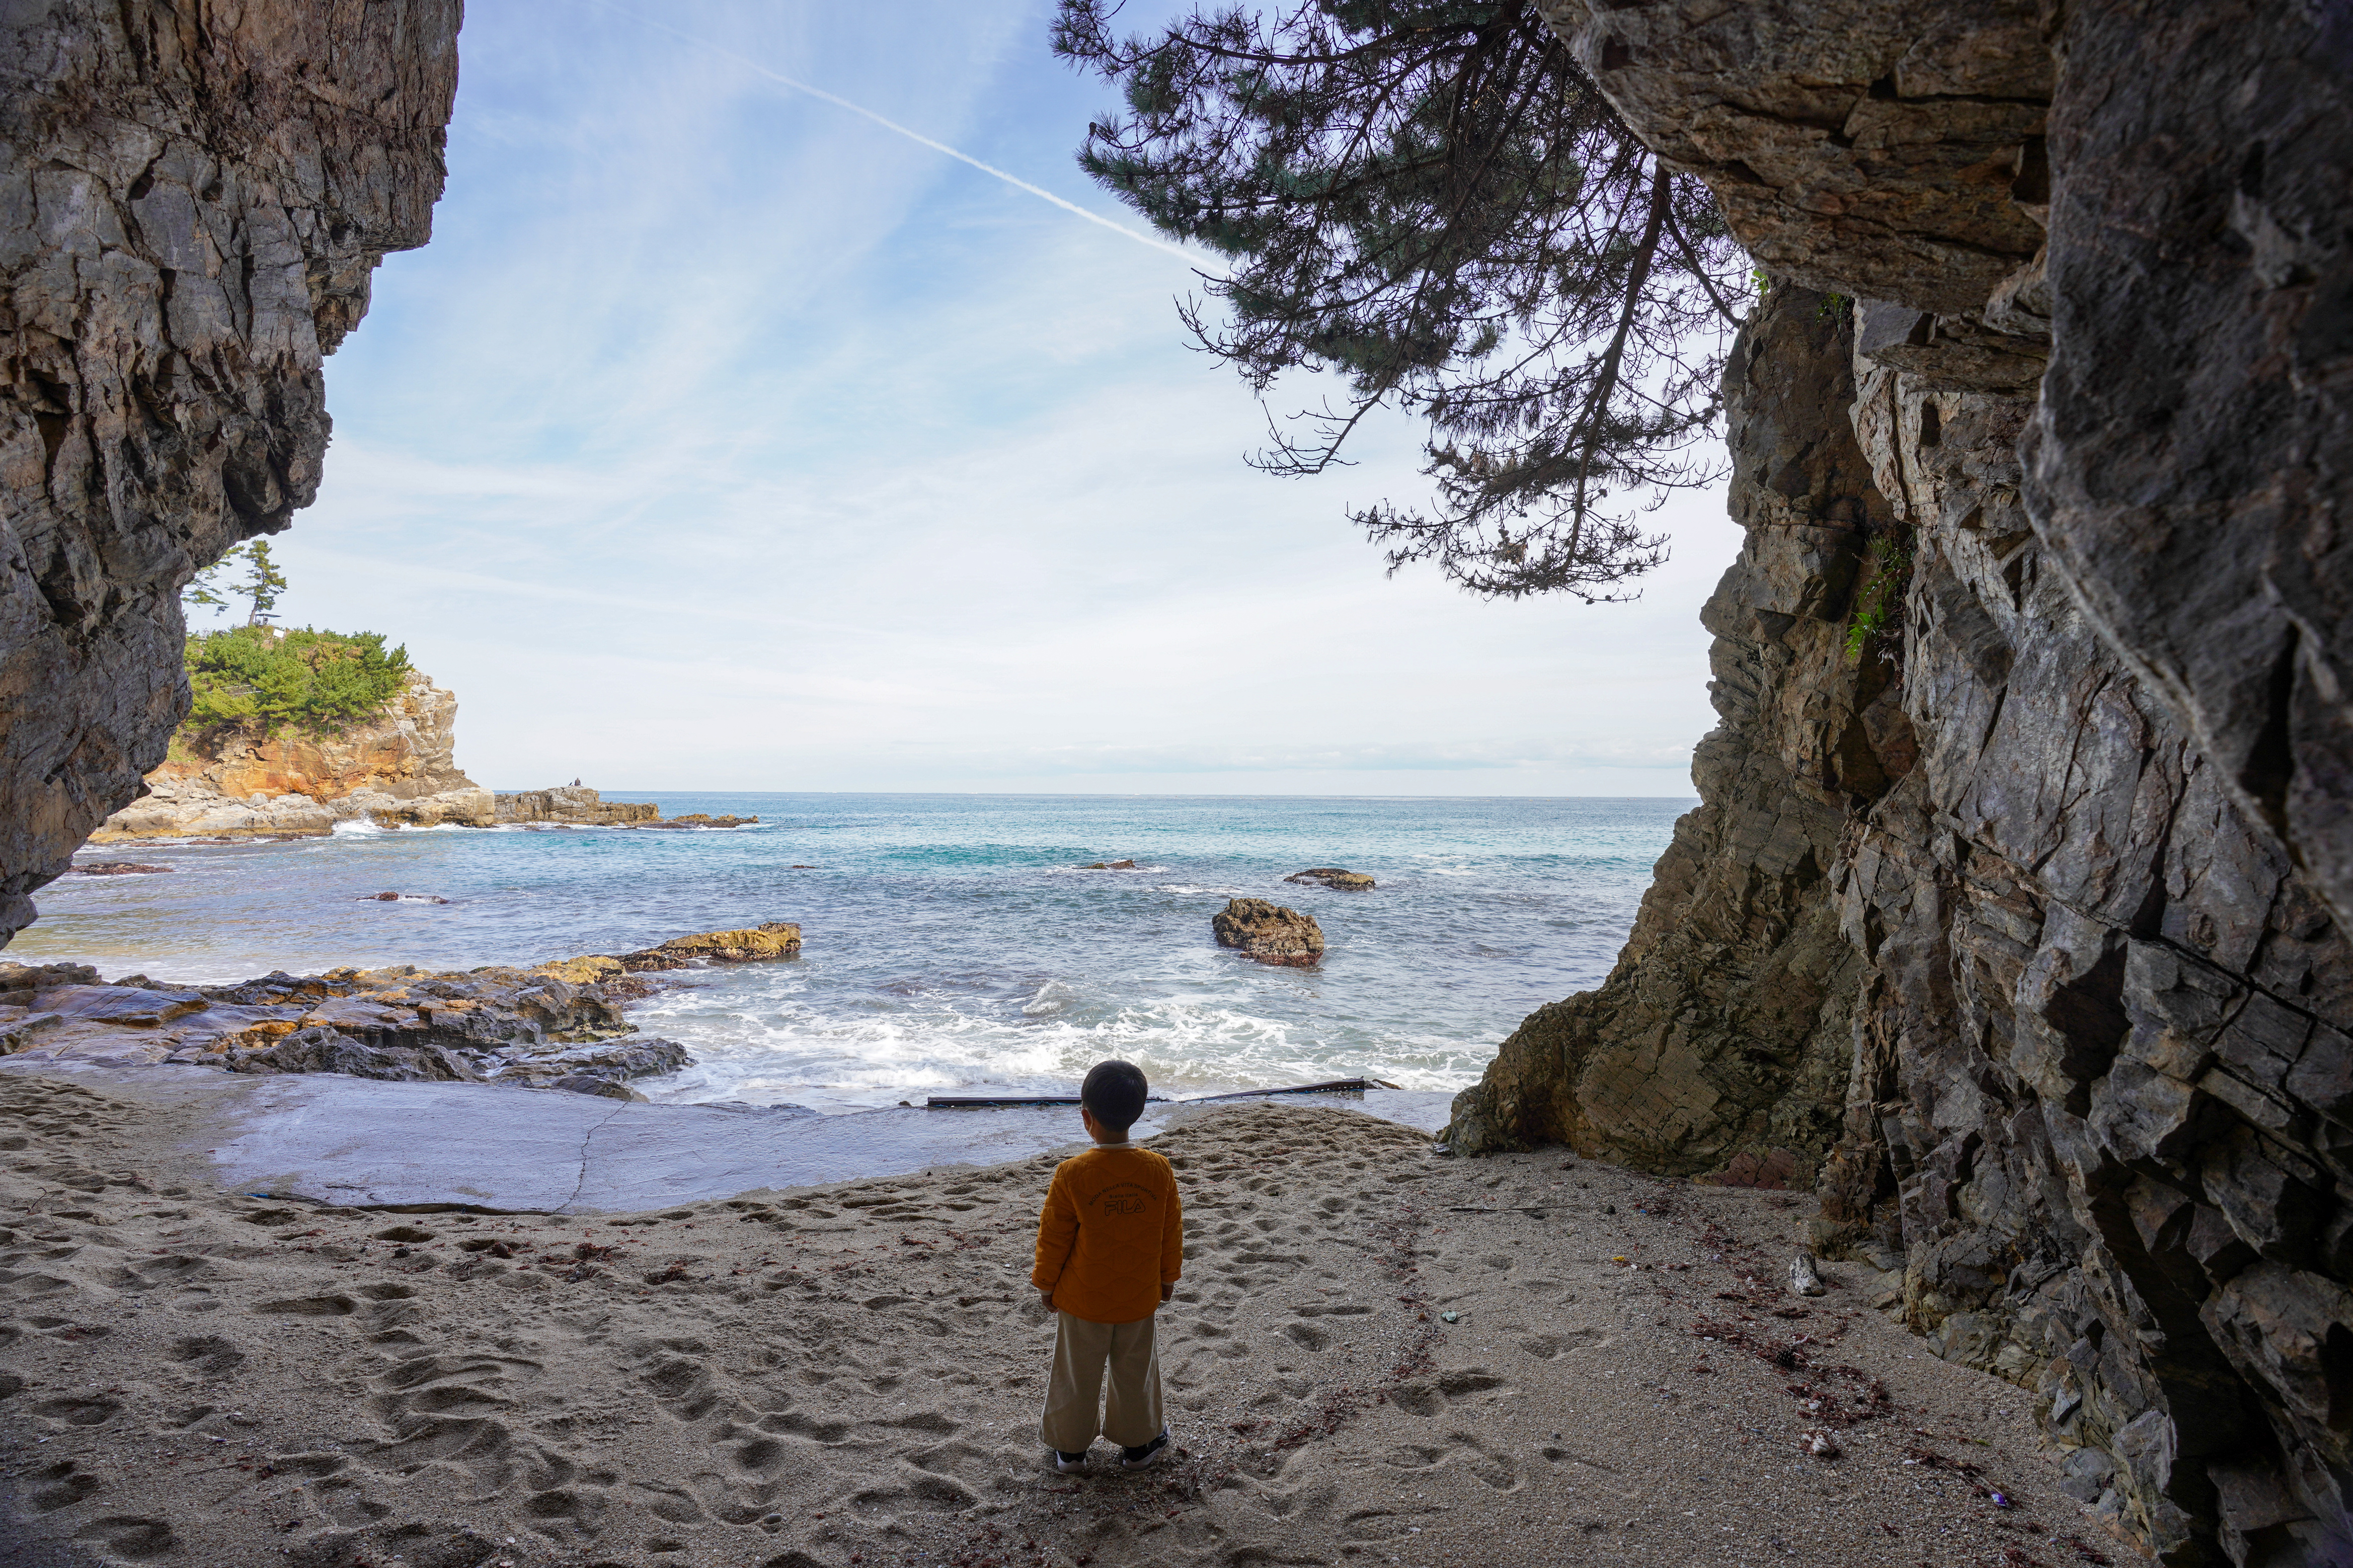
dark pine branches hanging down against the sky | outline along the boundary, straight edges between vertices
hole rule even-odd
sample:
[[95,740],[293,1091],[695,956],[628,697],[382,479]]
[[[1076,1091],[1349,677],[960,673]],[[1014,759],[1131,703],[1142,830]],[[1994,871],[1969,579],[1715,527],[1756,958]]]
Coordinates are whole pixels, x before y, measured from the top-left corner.
[[1322,473],[1374,409],[1409,411],[1431,508],[1351,512],[1391,571],[1626,597],[1666,559],[1640,515],[1718,477],[1701,440],[1751,275],[1706,186],[1635,141],[1529,0],[1195,9],[1136,38],[1118,9],[1054,19],[1054,52],[1127,101],[1080,167],[1231,259],[1205,277],[1226,320],[1181,315],[1261,404],[1292,369],[1346,388],[1271,414],[1252,461]]

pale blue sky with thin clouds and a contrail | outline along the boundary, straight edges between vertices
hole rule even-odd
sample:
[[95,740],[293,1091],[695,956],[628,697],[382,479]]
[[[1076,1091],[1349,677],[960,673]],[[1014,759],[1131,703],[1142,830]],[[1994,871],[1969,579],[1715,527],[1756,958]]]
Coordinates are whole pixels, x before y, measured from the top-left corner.
[[405,644],[499,790],[1687,797],[1722,494],[1638,604],[1388,576],[1346,508],[1426,496],[1417,425],[1242,463],[1214,263],[1078,172],[1049,14],[471,0],[282,623]]

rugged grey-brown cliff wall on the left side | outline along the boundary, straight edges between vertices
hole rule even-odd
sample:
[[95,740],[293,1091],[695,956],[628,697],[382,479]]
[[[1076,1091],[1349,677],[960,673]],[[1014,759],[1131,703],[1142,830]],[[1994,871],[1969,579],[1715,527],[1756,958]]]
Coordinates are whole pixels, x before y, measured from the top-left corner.
[[188,710],[179,590],[285,529],[320,360],[424,244],[459,0],[0,16],[0,938]]

